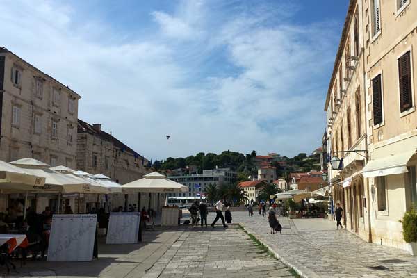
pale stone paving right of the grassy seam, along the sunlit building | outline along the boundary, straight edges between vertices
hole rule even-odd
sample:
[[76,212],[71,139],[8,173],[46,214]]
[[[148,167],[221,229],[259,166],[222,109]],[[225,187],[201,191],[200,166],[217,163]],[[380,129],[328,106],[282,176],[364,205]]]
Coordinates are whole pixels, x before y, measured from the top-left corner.
[[[279,218],[284,228],[280,235],[267,234],[268,223],[261,215],[234,212],[233,218],[303,277],[417,277],[417,257],[397,248],[366,243],[344,229],[336,231],[330,220]],[[386,259],[404,262],[381,261]],[[370,268],[379,265],[388,269]]]

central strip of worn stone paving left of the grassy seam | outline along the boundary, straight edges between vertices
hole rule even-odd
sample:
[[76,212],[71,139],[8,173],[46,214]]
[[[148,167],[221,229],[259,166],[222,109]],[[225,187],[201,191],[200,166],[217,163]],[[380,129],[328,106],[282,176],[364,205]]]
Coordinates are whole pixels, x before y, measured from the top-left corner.
[[189,227],[143,278],[293,277],[238,226]]

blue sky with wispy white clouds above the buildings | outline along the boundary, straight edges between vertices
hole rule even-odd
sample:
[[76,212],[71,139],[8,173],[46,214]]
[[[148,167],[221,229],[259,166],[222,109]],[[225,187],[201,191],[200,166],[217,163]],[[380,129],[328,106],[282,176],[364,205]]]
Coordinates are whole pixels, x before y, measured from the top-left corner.
[[147,158],[320,145],[347,0],[0,1],[1,44]]

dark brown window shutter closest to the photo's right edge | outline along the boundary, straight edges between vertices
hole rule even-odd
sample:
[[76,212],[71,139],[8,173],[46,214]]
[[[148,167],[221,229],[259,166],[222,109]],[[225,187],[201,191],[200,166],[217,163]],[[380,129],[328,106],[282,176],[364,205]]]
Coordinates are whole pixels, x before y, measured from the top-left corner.
[[398,78],[400,83],[400,111],[411,108],[413,99],[411,95],[411,69],[410,51],[398,59]]

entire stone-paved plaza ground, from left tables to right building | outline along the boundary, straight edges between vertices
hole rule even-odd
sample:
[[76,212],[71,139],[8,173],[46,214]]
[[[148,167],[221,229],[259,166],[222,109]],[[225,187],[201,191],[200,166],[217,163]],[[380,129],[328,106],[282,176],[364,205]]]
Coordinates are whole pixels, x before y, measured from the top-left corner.
[[[184,215],[186,216],[186,215]],[[209,213],[211,224],[215,213]],[[267,234],[266,218],[234,212],[233,222],[268,245],[281,261],[262,252],[237,225],[223,229],[179,227],[146,231],[145,242],[99,247],[88,263],[28,261],[9,277],[417,277],[417,257],[365,243],[348,231],[336,231],[323,219],[280,218],[281,234]],[[101,240],[102,241],[102,240]],[[384,268],[375,270],[373,267]],[[0,275],[6,276],[5,268]]]

